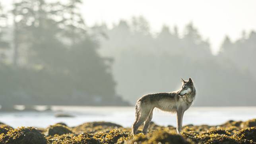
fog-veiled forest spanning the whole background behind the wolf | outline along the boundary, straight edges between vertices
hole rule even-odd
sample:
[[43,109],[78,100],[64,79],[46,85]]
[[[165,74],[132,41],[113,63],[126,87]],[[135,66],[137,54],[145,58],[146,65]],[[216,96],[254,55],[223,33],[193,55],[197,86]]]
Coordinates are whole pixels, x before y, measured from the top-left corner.
[[0,2],[1,110],[134,105],[144,94],[178,90],[180,78],[194,80],[194,106],[255,106],[254,30],[235,41],[226,36],[213,55],[193,21],[163,23],[157,33],[144,15],[89,27],[82,4],[21,0],[8,9]]

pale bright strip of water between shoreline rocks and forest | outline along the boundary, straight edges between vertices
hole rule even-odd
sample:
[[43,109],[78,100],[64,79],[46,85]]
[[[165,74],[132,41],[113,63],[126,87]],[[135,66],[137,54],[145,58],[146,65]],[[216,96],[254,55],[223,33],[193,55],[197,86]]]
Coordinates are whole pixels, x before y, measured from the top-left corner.
[[[70,114],[74,117],[55,117],[56,114]],[[77,107],[53,106],[53,111],[43,112],[0,112],[0,122],[12,127],[47,127],[64,122],[77,126],[89,121],[109,121],[124,127],[131,127],[134,121],[134,107]],[[183,125],[219,125],[228,120],[256,118],[256,107],[191,107],[183,117]],[[153,119],[159,125],[176,125],[176,116],[155,110]]]

